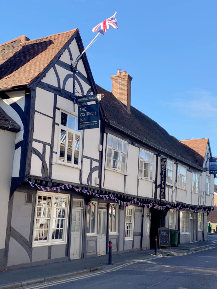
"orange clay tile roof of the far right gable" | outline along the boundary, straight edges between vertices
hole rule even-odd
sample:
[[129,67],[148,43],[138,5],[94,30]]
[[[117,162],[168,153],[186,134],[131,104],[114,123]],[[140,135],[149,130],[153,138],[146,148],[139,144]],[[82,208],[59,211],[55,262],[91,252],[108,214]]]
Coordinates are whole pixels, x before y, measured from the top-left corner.
[[199,166],[203,167],[207,143],[209,138],[196,138],[193,140],[181,140],[185,150],[197,160]]

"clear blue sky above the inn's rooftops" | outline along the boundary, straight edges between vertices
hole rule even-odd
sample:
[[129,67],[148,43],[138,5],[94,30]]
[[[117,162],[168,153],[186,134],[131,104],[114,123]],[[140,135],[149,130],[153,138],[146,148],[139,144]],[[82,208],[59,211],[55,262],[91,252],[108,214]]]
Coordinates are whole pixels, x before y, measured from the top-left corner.
[[214,0],[8,0],[0,43],[78,28],[87,46],[92,28],[117,11],[118,30],[87,51],[95,82],[111,90],[110,76],[126,70],[133,106],[180,140],[209,137],[216,156],[216,10]]

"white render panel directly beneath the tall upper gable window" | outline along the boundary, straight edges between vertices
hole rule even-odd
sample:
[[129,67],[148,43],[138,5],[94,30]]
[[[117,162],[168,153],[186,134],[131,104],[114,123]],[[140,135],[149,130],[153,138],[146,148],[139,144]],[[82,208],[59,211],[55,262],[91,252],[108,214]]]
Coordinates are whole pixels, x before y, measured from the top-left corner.
[[56,164],[53,166],[52,170],[52,179],[61,180],[61,181],[69,181],[72,183],[80,183],[79,180],[80,169],[73,168],[71,166],[65,166],[62,164]]

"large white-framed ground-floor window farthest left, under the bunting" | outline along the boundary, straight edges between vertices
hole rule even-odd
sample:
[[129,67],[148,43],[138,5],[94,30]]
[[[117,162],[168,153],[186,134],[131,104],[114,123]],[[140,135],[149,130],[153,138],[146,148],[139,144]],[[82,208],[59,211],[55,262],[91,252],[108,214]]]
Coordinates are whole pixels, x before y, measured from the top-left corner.
[[33,247],[66,244],[69,195],[37,192]]

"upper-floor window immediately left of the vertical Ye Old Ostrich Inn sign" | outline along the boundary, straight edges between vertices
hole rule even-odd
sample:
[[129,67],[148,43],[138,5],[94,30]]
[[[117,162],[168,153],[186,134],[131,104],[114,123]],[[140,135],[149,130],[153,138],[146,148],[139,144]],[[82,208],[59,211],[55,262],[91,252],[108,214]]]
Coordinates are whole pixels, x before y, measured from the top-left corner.
[[154,155],[148,151],[139,151],[139,178],[153,180]]

